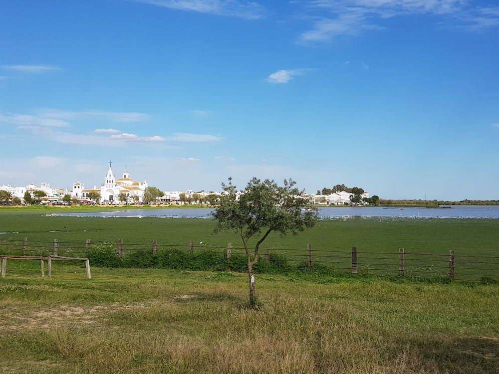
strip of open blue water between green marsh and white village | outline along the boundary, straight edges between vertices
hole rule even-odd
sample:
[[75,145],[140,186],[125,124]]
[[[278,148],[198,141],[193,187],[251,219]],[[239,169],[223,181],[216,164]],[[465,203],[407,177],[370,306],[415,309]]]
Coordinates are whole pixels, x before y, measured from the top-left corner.
[[[76,217],[161,217],[210,218],[208,208],[124,209],[89,213],[56,213],[48,215]],[[331,206],[319,208],[323,218],[340,217],[406,217],[406,218],[499,218],[499,206],[459,206],[452,208],[383,207],[383,206]]]

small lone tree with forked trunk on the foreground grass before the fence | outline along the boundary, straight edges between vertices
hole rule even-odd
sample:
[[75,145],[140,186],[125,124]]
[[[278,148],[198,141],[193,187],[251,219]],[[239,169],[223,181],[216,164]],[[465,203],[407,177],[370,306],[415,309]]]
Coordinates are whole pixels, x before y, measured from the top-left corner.
[[[253,265],[258,261],[261,243],[272,231],[281,236],[296,235],[317,223],[317,208],[309,206],[308,199],[301,197],[303,191],[295,184],[293,180],[284,180],[284,185],[279,186],[273,180],[252,178],[238,195],[231,178],[228,184],[222,183],[224,194],[212,212],[216,221],[214,232],[230,231],[243,241],[248,257],[251,308],[256,308]],[[254,247],[250,241],[256,241]]]

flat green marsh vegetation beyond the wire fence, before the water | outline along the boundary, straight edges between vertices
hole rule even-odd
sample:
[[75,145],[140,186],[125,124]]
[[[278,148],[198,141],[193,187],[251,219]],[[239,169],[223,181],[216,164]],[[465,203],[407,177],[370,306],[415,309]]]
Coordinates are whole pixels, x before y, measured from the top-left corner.
[[[50,213],[56,210],[50,210]],[[182,245],[179,249],[187,250],[192,240],[195,244],[203,242],[197,250],[208,249],[210,246],[219,246],[223,251],[228,242],[234,247],[240,247],[240,239],[231,234],[213,235],[214,223],[208,219],[187,218],[100,218],[100,217],[61,217],[47,216],[40,211],[9,211],[0,210],[0,249],[12,248],[20,254],[22,242],[5,244],[5,240],[22,240],[28,238],[33,245],[32,253],[36,255],[36,245],[51,247],[53,239],[59,240],[62,252],[65,247],[83,247],[86,239],[90,239],[94,246],[97,243],[107,243],[109,248],[117,248],[118,239],[123,239],[125,252],[127,249],[152,249],[152,241],[157,240],[162,245]],[[17,234],[10,232],[18,232]],[[2,241],[3,240],[3,241]],[[35,243],[46,241],[47,243]],[[491,275],[499,280],[497,260],[474,259],[459,256],[499,256],[499,220],[498,219],[390,219],[390,218],[354,218],[347,220],[322,220],[311,230],[297,236],[280,237],[271,234],[266,240],[271,253],[288,257],[293,263],[306,260],[306,246],[312,245],[314,263],[320,261],[349,262],[349,253],[334,253],[332,251],[350,251],[357,247],[359,251],[359,266],[363,266],[369,274],[381,274],[383,270],[398,269],[399,248],[406,253],[407,270],[419,275],[419,271],[442,272],[448,271],[449,250],[456,254],[456,273],[463,279],[478,279],[476,274]],[[78,244],[69,244],[77,242]],[[130,243],[144,243],[133,246]],[[3,247],[2,247],[3,245]],[[286,250],[281,250],[286,249]],[[75,249],[73,249],[75,250]],[[77,249],[76,249],[77,250]],[[71,250],[69,250],[71,251]],[[242,253],[234,249],[233,253]],[[322,252],[325,251],[325,252]],[[378,255],[384,258],[378,260],[369,258],[371,252],[390,252],[393,254]],[[441,256],[418,256],[421,253],[433,253]],[[300,256],[296,256],[300,254]],[[81,255],[77,254],[77,255]],[[321,257],[321,256],[333,257]],[[414,260],[413,260],[414,259]],[[440,260],[441,262],[439,262]],[[488,261],[492,264],[470,264],[474,269],[458,269],[464,267],[460,261]],[[494,264],[496,262],[496,264]],[[327,264],[333,267],[349,267],[349,264]],[[440,266],[440,267],[439,267]],[[491,269],[491,270],[483,270]],[[421,274],[424,275],[424,274]],[[458,277],[459,278],[459,277]]]

